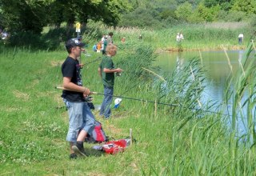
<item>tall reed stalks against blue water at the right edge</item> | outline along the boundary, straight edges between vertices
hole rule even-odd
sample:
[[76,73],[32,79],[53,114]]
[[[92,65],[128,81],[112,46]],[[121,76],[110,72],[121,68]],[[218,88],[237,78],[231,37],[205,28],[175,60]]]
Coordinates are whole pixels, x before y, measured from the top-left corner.
[[[231,102],[231,127],[235,134],[239,131],[237,123],[242,121],[246,128],[245,135],[242,136],[246,141],[247,146],[254,146],[256,142],[255,133],[255,89],[256,89],[256,67],[254,59],[251,55],[254,54],[254,41],[250,42],[245,50],[245,54],[239,60],[240,69],[234,73],[230,67],[230,76],[226,82],[225,103]],[[254,55],[255,57],[255,55]],[[229,60],[229,58],[227,58]],[[230,86],[234,85],[234,88]],[[246,114],[243,112],[246,109]],[[233,149],[234,150],[234,149]]]

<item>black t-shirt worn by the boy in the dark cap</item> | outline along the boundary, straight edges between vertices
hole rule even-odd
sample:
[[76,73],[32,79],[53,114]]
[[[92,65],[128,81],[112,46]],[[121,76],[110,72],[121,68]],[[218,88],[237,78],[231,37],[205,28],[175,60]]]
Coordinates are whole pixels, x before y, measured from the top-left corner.
[[[71,78],[71,82],[78,86],[82,86],[82,76],[80,74],[80,66],[78,60],[67,57],[62,64],[62,76]],[[62,91],[62,98],[66,98],[70,102],[85,102],[81,92],[69,90]]]

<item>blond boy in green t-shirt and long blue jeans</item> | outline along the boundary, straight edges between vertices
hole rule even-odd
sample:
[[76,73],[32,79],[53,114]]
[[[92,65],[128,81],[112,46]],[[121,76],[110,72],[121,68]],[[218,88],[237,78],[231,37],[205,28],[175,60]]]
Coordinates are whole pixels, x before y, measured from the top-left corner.
[[111,102],[114,94],[114,73],[121,73],[122,69],[114,68],[112,57],[117,54],[117,46],[109,43],[106,46],[106,55],[103,55],[102,62],[98,66],[98,75],[102,78],[104,86],[104,98],[100,110],[100,115],[105,118],[110,118],[111,115]]

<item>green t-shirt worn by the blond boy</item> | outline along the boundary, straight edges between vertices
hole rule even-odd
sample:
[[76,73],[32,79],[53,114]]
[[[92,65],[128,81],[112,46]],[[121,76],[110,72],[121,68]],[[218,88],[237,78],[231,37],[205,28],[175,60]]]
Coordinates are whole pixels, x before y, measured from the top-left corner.
[[112,61],[112,58],[109,56],[103,56],[102,62],[99,65],[99,67],[102,70],[102,82],[105,86],[114,86],[114,73],[105,73],[103,72],[103,69],[114,69],[114,63]]

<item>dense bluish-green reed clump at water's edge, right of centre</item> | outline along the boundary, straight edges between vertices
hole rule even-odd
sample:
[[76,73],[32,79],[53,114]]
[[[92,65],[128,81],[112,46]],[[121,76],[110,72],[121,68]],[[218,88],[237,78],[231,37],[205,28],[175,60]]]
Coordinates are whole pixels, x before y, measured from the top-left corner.
[[[202,91],[206,87],[204,71],[198,59],[191,59],[186,64],[177,64],[177,69],[167,75],[167,81],[160,84],[159,100],[172,104],[170,111],[173,114],[187,113],[191,117],[201,116]],[[162,102],[161,101],[161,102]],[[176,106],[176,107],[175,107]],[[190,113],[188,113],[190,112]],[[194,114],[195,113],[195,114]],[[191,118],[186,116],[186,118]]]

